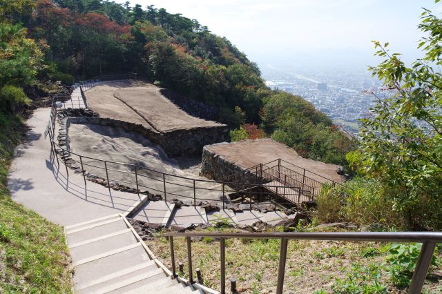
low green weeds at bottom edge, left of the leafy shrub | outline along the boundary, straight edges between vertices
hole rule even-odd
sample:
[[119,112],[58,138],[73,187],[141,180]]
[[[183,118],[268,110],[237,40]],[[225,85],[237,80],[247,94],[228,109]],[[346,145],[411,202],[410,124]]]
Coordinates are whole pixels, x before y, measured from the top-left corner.
[[352,264],[345,280],[337,279],[332,286],[333,293],[363,294],[389,293],[387,286],[381,282],[383,268],[377,264],[361,266]]

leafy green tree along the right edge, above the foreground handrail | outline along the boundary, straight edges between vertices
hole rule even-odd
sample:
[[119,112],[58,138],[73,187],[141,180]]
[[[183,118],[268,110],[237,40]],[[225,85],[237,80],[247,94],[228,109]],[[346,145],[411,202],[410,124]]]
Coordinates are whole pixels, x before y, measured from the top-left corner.
[[[438,2],[438,1],[436,1]],[[419,43],[425,57],[408,67],[388,43],[374,41],[384,60],[369,68],[383,80],[374,115],[362,119],[361,147],[352,165],[389,189],[394,209],[410,228],[442,228],[442,20],[430,10],[421,14]]]

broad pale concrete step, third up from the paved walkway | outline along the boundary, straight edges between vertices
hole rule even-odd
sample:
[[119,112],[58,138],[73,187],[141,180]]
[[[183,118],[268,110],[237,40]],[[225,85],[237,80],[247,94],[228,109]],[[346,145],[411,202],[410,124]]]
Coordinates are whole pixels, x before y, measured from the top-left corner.
[[85,288],[91,281],[128,270],[128,268],[134,266],[140,266],[146,262],[150,262],[146,251],[142,246],[137,246],[117,254],[79,264],[75,266],[75,289]]

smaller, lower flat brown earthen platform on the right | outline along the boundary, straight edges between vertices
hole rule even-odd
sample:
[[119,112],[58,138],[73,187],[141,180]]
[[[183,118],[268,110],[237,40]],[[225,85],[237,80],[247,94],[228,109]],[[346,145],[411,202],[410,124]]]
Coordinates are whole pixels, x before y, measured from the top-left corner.
[[[266,164],[267,162],[280,158],[298,166],[298,168],[287,163],[282,163],[282,165],[295,170],[297,173],[302,173],[302,169],[305,168],[311,172],[307,172],[308,175],[306,174],[306,176],[316,179],[319,182],[323,182],[323,179],[314,175],[314,173],[334,182],[345,181],[345,177],[338,174],[340,166],[302,158],[292,148],[268,138],[232,143],[223,142],[204,146],[202,163],[202,173],[204,175],[216,174],[216,171],[211,169],[217,169],[219,167],[217,167],[217,164],[211,164],[211,161],[217,157],[222,157],[225,163],[231,163],[233,168],[237,166],[244,169],[251,168],[258,164]],[[215,176],[212,177],[216,178]]]

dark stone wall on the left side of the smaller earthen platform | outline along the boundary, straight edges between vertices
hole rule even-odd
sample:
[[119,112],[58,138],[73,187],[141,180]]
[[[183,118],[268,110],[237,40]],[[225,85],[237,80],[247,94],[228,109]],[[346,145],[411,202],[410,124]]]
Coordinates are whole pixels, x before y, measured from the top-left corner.
[[[224,157],[213,153],[206,147],[202,149],[201,175],[208,179],[214,179],[221,182],[256,184],[260,181],[255,174],[251,173],[246,168],[228,161]],[[246,186],[244,186],[244,188],[246,188]]]

